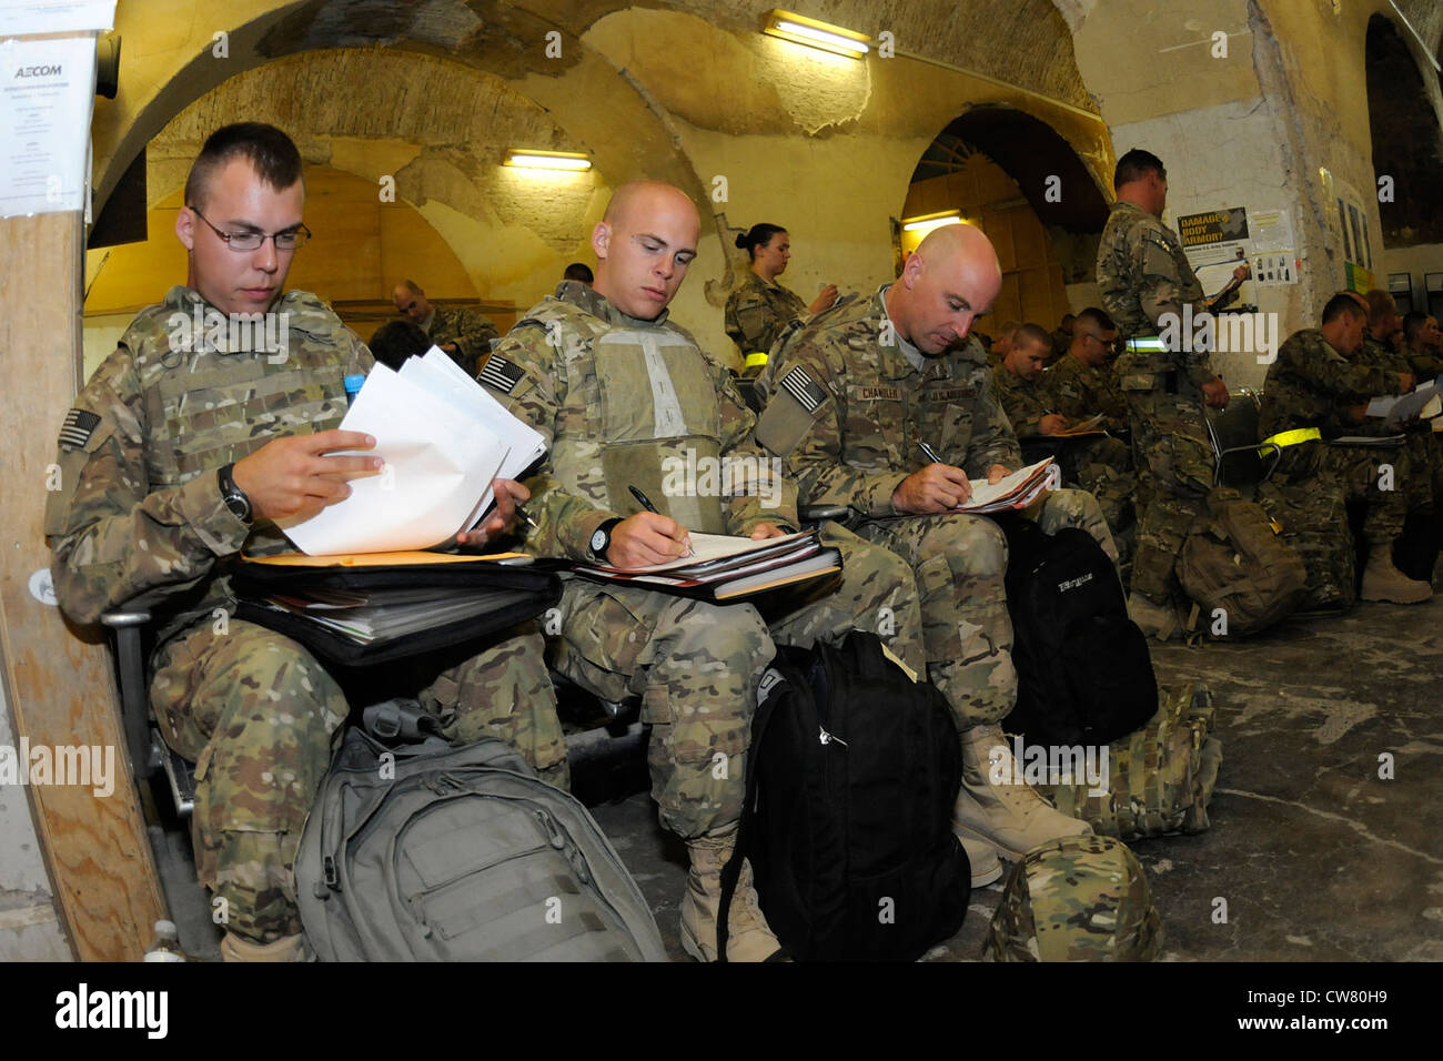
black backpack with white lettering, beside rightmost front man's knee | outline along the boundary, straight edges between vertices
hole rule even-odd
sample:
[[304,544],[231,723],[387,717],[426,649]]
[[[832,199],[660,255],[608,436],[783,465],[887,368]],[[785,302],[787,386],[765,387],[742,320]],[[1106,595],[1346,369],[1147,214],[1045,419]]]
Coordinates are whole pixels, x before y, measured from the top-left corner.
[[1123,585],[1091,534],[1048,534],[1030,520],[1007,534],[1007,609],[1017,704],[1009,733],[1039,745],[1107,745],[1157,713],[1147,638],[1127,618]]

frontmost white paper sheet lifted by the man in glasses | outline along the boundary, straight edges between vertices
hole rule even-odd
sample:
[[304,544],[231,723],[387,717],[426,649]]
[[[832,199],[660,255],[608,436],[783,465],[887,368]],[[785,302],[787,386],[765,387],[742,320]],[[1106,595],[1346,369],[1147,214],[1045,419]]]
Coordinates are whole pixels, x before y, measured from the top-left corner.
[[310,556],[430,549],[468,528],[508,446],[455,403],[375,365],[343,430],[375,436],[381,475],[351,481],[352,494],[281,530]]

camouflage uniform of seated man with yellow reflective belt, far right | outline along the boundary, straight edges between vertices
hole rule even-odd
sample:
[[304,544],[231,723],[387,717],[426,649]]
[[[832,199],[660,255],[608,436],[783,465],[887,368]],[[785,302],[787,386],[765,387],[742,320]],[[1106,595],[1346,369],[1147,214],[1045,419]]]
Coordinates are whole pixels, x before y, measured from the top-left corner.
[[[1380,394],[1397,394],[1398,377],[1377,365],[1348,361],[1315,328],[1294,332],[1268,365],[1263,385],[1260,439],[1297,427],[1317,427],[1325,440],[1284,446],[1276,475],[1286,482],[1330,482],[1352,499],[1365,499],[1364,536],[1372,549],[1391,546],[1403,531],[1408,498],[1403,489],[1410,475],[1405,449],[1352,449],[1330,446],[1326,439],[1356,435],[1346,414]],[[1381,463],[1394,463],[1395,489],[1378,489]],[[1346,533],[1339,528],[1339,534]]]

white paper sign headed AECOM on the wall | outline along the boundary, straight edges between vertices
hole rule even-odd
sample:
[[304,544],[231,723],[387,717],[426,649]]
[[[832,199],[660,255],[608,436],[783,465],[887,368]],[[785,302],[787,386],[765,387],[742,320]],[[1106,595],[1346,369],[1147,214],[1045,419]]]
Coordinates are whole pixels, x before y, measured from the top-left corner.
[[0,40],[0,217],[85,205],[95,40]]

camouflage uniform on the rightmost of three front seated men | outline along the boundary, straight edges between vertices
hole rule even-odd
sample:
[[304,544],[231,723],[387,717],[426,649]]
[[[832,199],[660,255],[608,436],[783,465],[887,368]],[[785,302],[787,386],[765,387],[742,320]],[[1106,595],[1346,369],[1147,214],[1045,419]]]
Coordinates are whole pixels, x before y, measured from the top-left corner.
[[[892,494],[928,463],[919,442],[973,478],[994,463],[1017,468],[1020,452],[981,346],[918,370],[899,341],[883,342],[895,336],[885,290],[824,310],[782,344],[759,380],[769,400],[756,439],[785,460],[808,504],[851,505],[869,517],[857,533],[908,562],[928,677],[965,730],[999,722],[1016,699],[1006,540],[986,517],[900,515]],[[1081,525],[1117,559],[1097,501],[1081,491],[1051,494],[1039,523]]]

